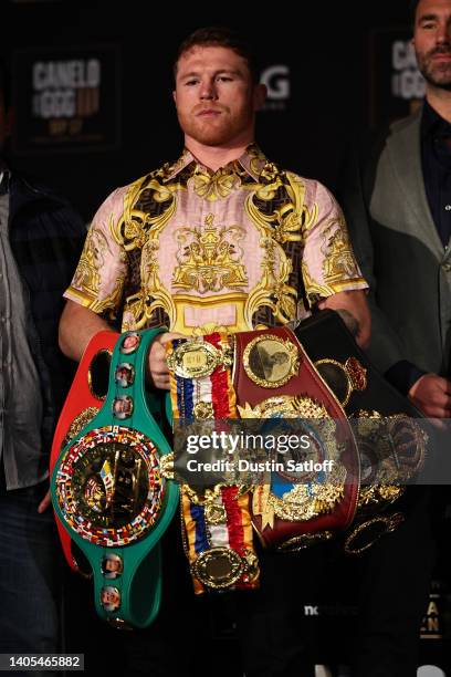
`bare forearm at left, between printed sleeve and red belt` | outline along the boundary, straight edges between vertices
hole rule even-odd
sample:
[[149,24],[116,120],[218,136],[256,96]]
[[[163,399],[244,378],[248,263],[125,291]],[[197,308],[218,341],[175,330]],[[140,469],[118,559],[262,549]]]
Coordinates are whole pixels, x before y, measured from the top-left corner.
[[96,313],[74,301],[67,301],[60,320],[59,342],[64,355],[80,362],[91,338],[112,327]]

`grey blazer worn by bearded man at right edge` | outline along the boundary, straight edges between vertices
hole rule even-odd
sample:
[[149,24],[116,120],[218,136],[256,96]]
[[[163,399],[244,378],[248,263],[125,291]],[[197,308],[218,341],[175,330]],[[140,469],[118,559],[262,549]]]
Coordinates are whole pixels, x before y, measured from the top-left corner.
[[449,375],[451,248],[443,248],[421,168],[422,110],[391,125],[354,162],[342,195],[357,260],[370,284],[369,356]]

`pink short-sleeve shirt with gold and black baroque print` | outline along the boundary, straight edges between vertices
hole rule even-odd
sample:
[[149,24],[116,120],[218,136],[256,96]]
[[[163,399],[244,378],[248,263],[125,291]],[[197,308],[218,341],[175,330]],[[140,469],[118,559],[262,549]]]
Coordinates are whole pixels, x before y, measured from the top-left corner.
[[190,335],[294,325],[318,300],[366,288],[331,192],[251,145],[214,173],[185,150],[115,190],[65,296],[123,331]]

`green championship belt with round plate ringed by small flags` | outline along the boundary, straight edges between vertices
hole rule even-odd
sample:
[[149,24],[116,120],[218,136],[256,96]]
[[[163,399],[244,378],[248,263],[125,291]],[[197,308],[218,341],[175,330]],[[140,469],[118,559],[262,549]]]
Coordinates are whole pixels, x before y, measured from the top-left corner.
[[[145,375],[164,329],[116,342],[102,409],[64,447],[52,475],[61,524],[87,559],[98,615],[117,627],[149,625],[161,596],[158,540],[177,509],[170,447],[150,408]],[[149,408],[150,405],[150,408]]]

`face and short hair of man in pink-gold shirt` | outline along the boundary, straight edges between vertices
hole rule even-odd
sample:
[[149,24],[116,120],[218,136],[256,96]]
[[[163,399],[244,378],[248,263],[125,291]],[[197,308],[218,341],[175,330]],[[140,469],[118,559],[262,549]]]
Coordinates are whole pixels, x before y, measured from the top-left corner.
[[229,147],[253,139],[254,113],[264,86],[254,85],[247,61],[223,46],[195,46],[179,61],[174,100],[186,142]]

